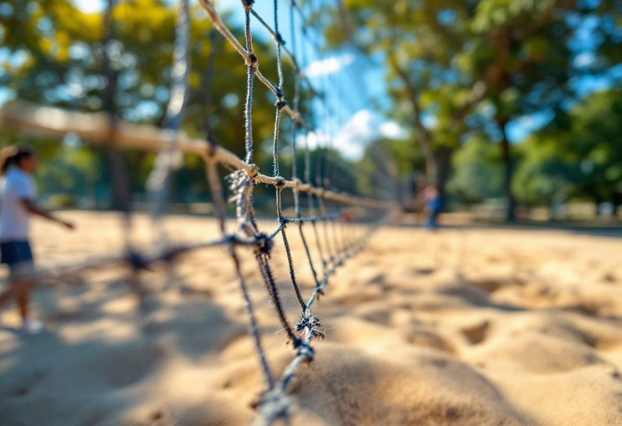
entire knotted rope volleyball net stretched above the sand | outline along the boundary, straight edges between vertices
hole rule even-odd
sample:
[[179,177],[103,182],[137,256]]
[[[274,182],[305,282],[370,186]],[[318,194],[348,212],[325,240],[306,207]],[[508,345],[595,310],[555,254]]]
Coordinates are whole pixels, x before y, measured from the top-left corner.
[[[109,114],[77,113],[63,111],[58,108],[33,107],[23,103],[13,103],[0,109],[1,126],[21,126],[33,130],[47,131],[48,133],[64,134],[70,131],[78,136],[100,142],[103,144],[114,140],[116,146],[124,148],[157,149],[158,159],[149,175],[148,185],[154,196],[154,221],[159,228],[160,244],[152,246],[151,250],[139,252],[132,248],[126,249],[121,255],[93,258],[72,265],[55,266],[53,268],[38,268],[33,273],[36,280],[50,280],[68,277],[86,270],[103,268],[110,265],[125,264],[132,267],[132,285],[136,286],[136,293],[144,300],[143,293],[146,291],[138,282],[138,272],[148,269],[152,263],[165,260],[169,263],[182,255],[205,247],[226,247],[228,255],[234,265],[239,288],[241,290],[246,313],[248,315],[249,335],[258,354],[262,375],[266,382],[267,391],[257,407],[258,417],[253,425],[270,425],[277,419],[286,417],[294,398],[288,394],[290,385],[295,380],[298,367],[304,361],[312,361],[314,349],[311,346],[313,338],[323,338],[320,328],[320,320],[312,313],[315,300],[323,294],[328,285],[329,278],[337,272],[337,268],[349,258],[363,249],[369,236],[388,217],[389,212],[395,208],[393,202],[380,201],[365,197],[355,196],[347,192],[339,191],[338,187],[345,187],[348,179],[340,176],[340,173],[331,174],[329,166],[332,164],[330,156],[325,148],[315,150],[315,186],[312,181],[312,161],[309,151],[309,132],[313,126],[305,121],[300,114],[300,83],[305,82],[309,93],[313,97],[319,97],[309,83],[309,79],[300,70],[297,62],[297,47],[295,39],[295,16],[300,16],[302,21],[302,34],[307,36],[309,26],[302,9],[294,0],[289,0],[289,23],[292,29],[290,49],[284,47],[284,40],[279,33],[279,17],[277,14],[277,0],[274,0],[274,30],[267,26],[264,19],[253,10],[253,0],[242,0],[244,7],[244,46],[238,42],[231,31],[225,26],[220,15],[214,9],[210,0],[199,0],[201,6],[207,11],[213,27],[222,34],[235,50],[242,55],[247,66],[246,75],[246,100],[244,105],[244,159],[216,143],[210,126],[211,108],[211,82],[205,85],[205,130],[207,140],[192,140],[179,131],[183,118],[183,105],[188,95],[188,45],[190,43],[190,16],[188,15],[188,1],[180,0],[180,10],[176,27],[174,44],[174,60],[172,73],[172,87],[169,106],[165,113],[165,129],[155,130],[151,126],[131,125],[120,120],[111,123]],[[297,11],[298,14],[294,14]],[[273,85],[260,72],[258,57],[253,50],[253,34],[251,32],[251,19],[253,15],[272,34],[276,43],[276,65],[278,83]],[[210,36],[213,44],[213,36]],[[213,49],[213,46],[212,46]],[[289,57],[294,65],[294,94],[291,107],[285,101],[284,72],[282,67],[281,50]],[[304,57],[304,46],[301,56]],[[304,62],[304,61],[302,61]],[[208,57],[208,69],[206,77],[213,76],[213,52]],[[276,95],[276,115],[274,123],[273,143],[273,170],[272,176],[259,173],[259,168],[253,164],[253,83],[258,78]],[[320,97],[322,99],[322,97]],[[323,102],[327,102],[323,99]],[[279,169],[279,133],[281,130],[282,111],[292,119],[292,178],[286,180],[281,176]],[[325,116],[325,114],[323,114]],[[299,132],[299,130],[301,132]],[[300,134],[302,133],[302,134]],[[111,138],[113,135],[113,138]],[[300,137],[299,137],[300,136]],[[298,178],[297,170],[297,140],[304,140],[304,171],[302,182]],[[215,216],[218,220],[220,237],[215,240],[200,241],[192,244],[169,244],[165,242],[164,228],[160,218],[164,212],[165,202],[168,197],[170,176],[174,170],[174,157],[179,153],[191,153],[201,156],[206,163],[206,175],[210,187]],[[218,164],[233,169],[228,175],[229,190],[232,202],[236,210],[237,228],[234,232],[228,232],[226,228],[225,196],[221,184]],[[261,232],[258,228],[253,209],[253,189],[255,184],[264,183],[274,186],[277,211],[277,228],[271,232]],[[294,197],[295,218],[285,216],[282,199],[283,191],[292,189]],[[307,192],[307,216],[304,216],[300,206],[300,192]],[[314,199],[315,197],[315,199]],[[318,229],[318,223],[322,222],[322,229]],[[302,293],[302,285],[296,277],[294,257],[290,249],[286,229],[288,224],[295,224],[299,229],[300,239],[304,245],[304,253],[307,257],[312,272],[313,290],[305,300]],[[311,244],[307,240],[304,225],[312,225],[312,235],[315,239],[317,252],[322,263],[322,277],[318,274],[318,268],[312,257]],[[285,310],[277,287],[277,280],[271,267],[271,253],[277,235],[281,239],[287,255],[289,265],[289,280],[299,302],[300,318],[294,325],[285,315]],[[330,237],[332,234],[332,238]],[[261,333],[259,331],[257,317],[255,315],[253,301],[249,295],[248,285],[243,273],[238,256],[238,246],[246,246],[254,250],[254,257],[258,264],[259,275],[263,281],[267,294],[270,297],[272,307],[277,319],[281,324],[288,341],[295,349],[294,359],[285,368],[281,377],[276,379],[271,372],[262,346]],[[317,259],[316,259],[317,260]]]

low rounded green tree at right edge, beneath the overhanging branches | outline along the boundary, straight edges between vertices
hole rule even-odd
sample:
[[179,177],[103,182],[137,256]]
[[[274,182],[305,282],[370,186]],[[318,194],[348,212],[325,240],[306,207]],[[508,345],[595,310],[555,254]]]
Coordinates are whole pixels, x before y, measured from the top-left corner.
[[524,143],[515,191],[525,202],[554,197],[622,203],[622,90],[588,96]]

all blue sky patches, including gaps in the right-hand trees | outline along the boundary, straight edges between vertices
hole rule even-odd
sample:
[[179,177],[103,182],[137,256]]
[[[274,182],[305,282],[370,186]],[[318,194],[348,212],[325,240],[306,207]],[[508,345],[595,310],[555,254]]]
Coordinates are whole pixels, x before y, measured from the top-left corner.
[[[103,11],[105,6],[104,0],[74,0],[81,9],[90,12]],[[174,0],[170,0],[173,2]],[[191,2],[195,0],[190,0]],[[221,12],[228,11],[231,13],[231,19],[240,26],[244,23],[244,10],[239,0],[220,0],[215,1],[216,9]],[[274,27],[274,14],[272,9],[272,1],[259,0],[253,8],[260,16],[271,26]],[[279,31],[281,32],[288,47],[292,47],[291,31],[289,24],[289,2],[279,1]],[[259,24],[254,17],[251,17],[251,27],[253,27],[254,37],[261,39],[270,39],[271,35]],[[577,36],[572,42],[572,48],[576,52],[575,66],[589,67],[595,60],[592,52],[593,36],[592,31],[598,25],[596,19],[586,19],[577,24],[579,27]],[[300,27],[300,19],[295,14],[295,27]],[[322,44],[322,36],[320,34],[312,34],[317,44]],[[302,44],[302,34],[300,31],[296,34],[297,46],[299,52],[304,48]],[[351,52],[338,52],[330,56],[324,57],[317,54],[311,47],[311,44],[305,46],[305,54],[307,63],[303,64],[305,73],[310,77],[314,87],[322,89],[330,89],[333,99],[329,103],[332,104],[330,110],[323,107],[321,103],[314,105],[314,109],[318,111],[320,122],[324,123],[317,136],[317,141],[313,143],[322,143],[326,140],[326,135],[330,135],[335,143],[343,145],[341,148],[347,151],[357,151],[355,138],[360,138],[360,132],[357,129],[366,129],[373,131],[374,135],[384,135],[389,137],[403,137],[404,130],[400,129],[395,123],[382,118],[377,112],[369,113],[373,110],[370,107],[371,98],[379,102],[380,105],[386,105],[388,97],[386,95],[386,85],[382,77],[384,70],[381,65],[373,65],[368,60],[355,57],[352,59]],[[0,60],[2,59],[2,50],[0,49]],[[266,65],[264,65],[266,66]],[[362,80],[355,82],[348,74],[349,67],[363,67],[366,71],[361,77]],[[380,78],[379,78],[380,77]],[[585,96],[595,90],[603,90],[611,87],[613,80],[622,79],[622,65],[612,69],[606,75],[587,76],[577,78],[572,82],[573,89],[578,95]],[[337,89],[335,90],[335,87]],[[338,93],[337,93],[338,92]],[[364,92],[364,93],[363,93]],[[0,104],[7,100],[9,94],[0,90]],[[344,101],[343,99],[347,99]],[[338,111],[335,111],[338,110]],[[362,112],[361,112],[362,111]],[[322,120],[323,118],[323,120]],[[524,140],[532,131],[542,128],[552,118],[550,111],[540,111],[527,116],[521,116],[508,124],[508,138],[514,143]],[[432,119],[432,118],[430,118]],[[358,134],[357,134],[358,133]],[[360,151],[360,149],[358,149]],[[356,154],[350,152],[351,155]]]

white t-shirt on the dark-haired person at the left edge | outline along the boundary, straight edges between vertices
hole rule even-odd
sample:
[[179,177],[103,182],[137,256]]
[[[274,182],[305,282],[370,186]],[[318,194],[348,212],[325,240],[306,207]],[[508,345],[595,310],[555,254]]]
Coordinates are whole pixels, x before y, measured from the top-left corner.
[[36,198],[37,186],[30,173],[9,168],[0,181],[0,242],[28,240],[30,212],[22,200]]

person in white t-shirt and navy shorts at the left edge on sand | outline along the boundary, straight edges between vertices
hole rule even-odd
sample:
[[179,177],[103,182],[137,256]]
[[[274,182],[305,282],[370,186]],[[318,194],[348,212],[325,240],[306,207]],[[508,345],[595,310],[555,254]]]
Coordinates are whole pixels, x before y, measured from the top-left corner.
[[39,166],[34,148],[7,146],[0,150],[0,263],[9,265],[9,287],[0,293],[0,308],[15,299],[22,316],[22,330],[39,333],[43,323],[28,316],[28,301],[34,287],[32,252],[28,242],[30,215],[52,219],[68,229],[73,224],[57,219],[37,206],[37,187],[32,173]]

